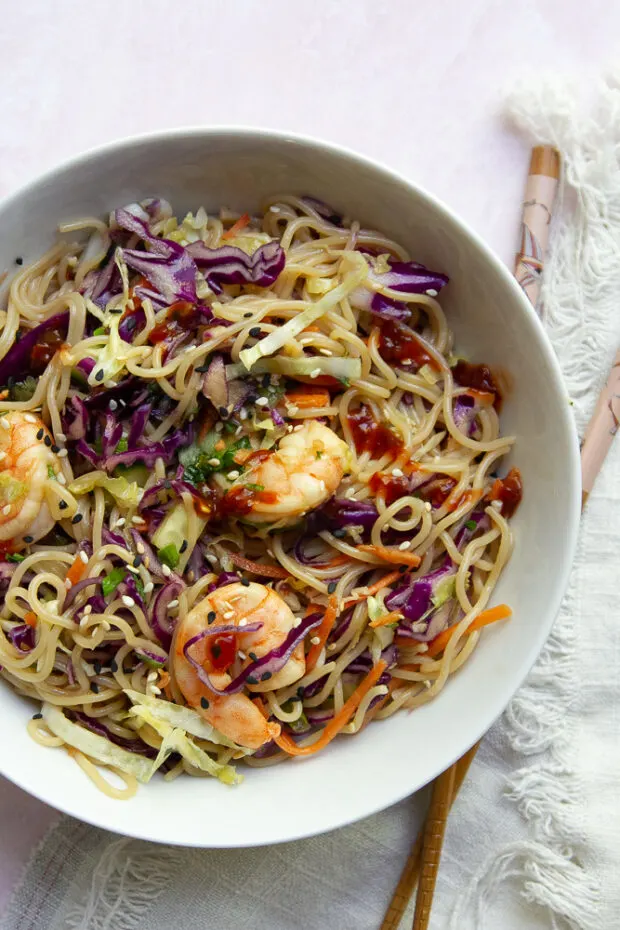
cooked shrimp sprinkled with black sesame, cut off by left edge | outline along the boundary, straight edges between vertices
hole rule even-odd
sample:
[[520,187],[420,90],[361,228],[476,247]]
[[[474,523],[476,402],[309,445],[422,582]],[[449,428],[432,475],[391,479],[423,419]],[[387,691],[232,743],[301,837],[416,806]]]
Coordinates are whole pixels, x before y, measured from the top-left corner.
[[34,414],[0,417],[0,542],[23,546],[24,536],[41,539],[54,526],[45,491],[60,463],[51,445],[47,427]]

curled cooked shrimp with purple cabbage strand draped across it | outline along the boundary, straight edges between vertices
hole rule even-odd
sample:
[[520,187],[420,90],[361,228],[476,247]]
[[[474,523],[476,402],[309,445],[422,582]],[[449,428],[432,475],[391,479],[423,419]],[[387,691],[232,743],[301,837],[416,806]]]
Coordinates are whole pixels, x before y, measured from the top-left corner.
[[[209,623],[209,615],[211,619]],[[244,632],[253,623],[262,626],[256,632]],[[196,670],[183,654],[183,647],[193,636],[204,630],[216,634],[218,628],[237,627],[233,662],[225,668],[214,668],[213,647],[218,646],[215,636],[205,637],[192,648],[192,657],[209,673],[217,688],[230,684],[234,674],[251,664],[250,653],[261,658],[280,646],[295,624],[295,616],[282,598],[262,584],[244,586],[238,582],[217,588],[201,600],[177,627],[172,653],[172,666],[176,683],[187,703],[208,720],[220,733],[240,746],[258,749],[280,734],[280,725],[265,720],[260,709],[247,694],[220,695],[210,690],[196,674]],[[225,635],[225,634],[223,634]],[[221,648],[221,647],[220,647]],[[237,650],[242,650],[241,656]],[[217,658],[220,658],[218,655]],[[248,685],[250,691],[271,691],[283,688],[303,677],[306,659],[303,643],[294,650],[286,665],[266,682]]]

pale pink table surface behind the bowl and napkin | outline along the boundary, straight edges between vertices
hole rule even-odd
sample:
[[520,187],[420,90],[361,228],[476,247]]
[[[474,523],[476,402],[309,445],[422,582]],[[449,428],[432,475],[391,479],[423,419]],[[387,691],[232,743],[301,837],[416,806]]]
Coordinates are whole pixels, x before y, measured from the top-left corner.
[[[0,30],[0,196],[122,136],[245,124],[408,175],[511,261],[528,149],[506,89],[604,69],[613,0],[30,0]],[[60,217],[59,217],[60,219]],[[0,777],[0,910],[56,818]]]

